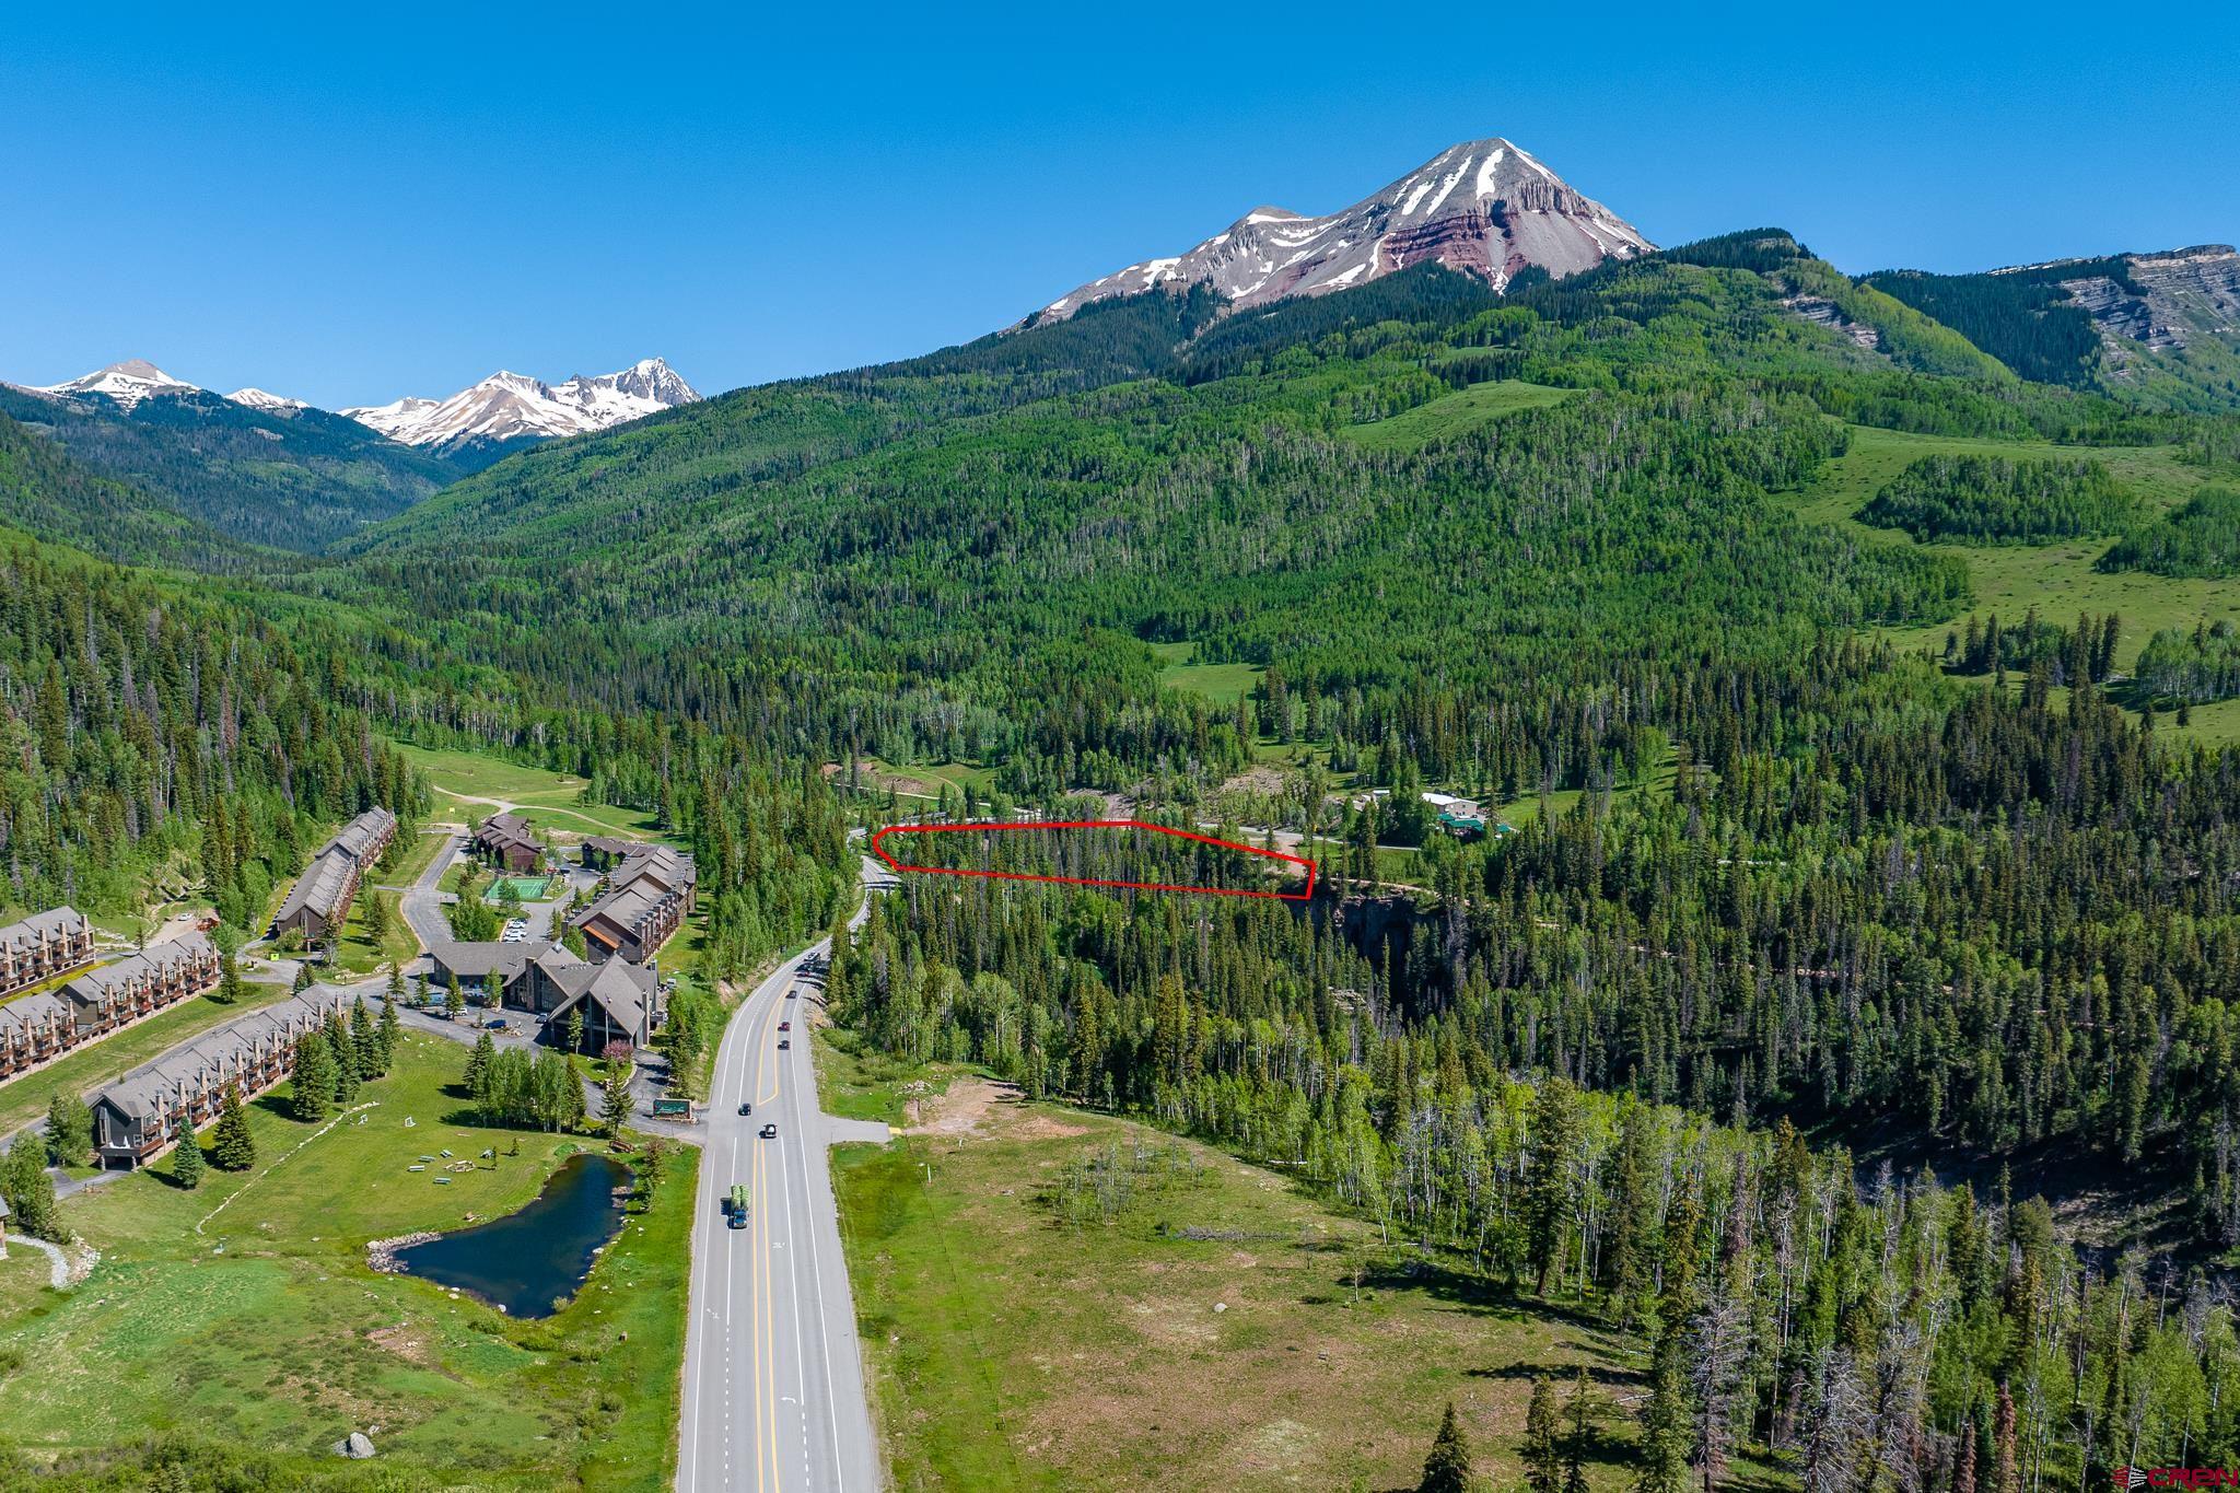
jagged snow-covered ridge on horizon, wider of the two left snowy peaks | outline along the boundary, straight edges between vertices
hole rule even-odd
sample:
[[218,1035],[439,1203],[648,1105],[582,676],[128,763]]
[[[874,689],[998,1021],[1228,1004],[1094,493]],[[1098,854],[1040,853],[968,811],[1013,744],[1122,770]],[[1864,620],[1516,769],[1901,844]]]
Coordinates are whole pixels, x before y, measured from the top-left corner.
[[464,466],[488,466],[535,441],[607,430],[694,401],[699,394],[676,369],[661,358],[643,358],[618,374],[576,374],[564,383],[497,372],[450,398],[405,396],[343,414],[392,441]]

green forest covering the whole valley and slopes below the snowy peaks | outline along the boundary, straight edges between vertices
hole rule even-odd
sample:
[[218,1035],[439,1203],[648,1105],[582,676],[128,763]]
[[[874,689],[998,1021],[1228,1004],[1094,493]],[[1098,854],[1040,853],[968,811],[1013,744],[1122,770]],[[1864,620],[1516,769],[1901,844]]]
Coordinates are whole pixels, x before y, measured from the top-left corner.
[[222,591],[67,548],[132,488],[0,423],[13,895],[253,900],[414,799],[388,739],[659,813],[717,971],[838,918],[851,817],[1281,835],[1308,907],[923,877],[836,1010],[1637,1334],[1651,1493],[2240,1457],[2236,416],[1915,300],[1770,228],[1156,289],[540,445],[329,560],[125,555]]

